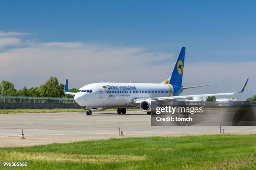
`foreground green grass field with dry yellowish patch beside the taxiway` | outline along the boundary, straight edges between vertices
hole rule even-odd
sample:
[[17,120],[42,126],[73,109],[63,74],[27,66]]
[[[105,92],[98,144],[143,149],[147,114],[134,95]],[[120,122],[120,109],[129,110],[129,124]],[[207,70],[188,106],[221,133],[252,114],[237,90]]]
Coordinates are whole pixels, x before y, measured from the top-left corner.
[[66,144],[0,148],[0,160],[2,162],[28,162],[27,168],[20,168],[23,170],[255,170],[256,135],[113,138]]

